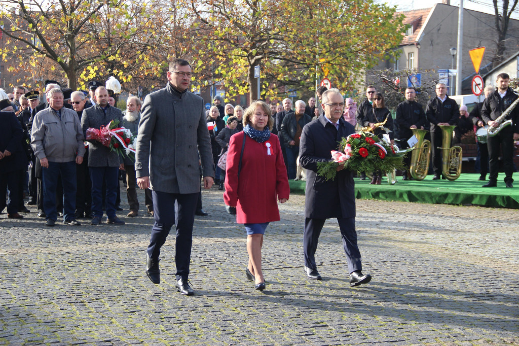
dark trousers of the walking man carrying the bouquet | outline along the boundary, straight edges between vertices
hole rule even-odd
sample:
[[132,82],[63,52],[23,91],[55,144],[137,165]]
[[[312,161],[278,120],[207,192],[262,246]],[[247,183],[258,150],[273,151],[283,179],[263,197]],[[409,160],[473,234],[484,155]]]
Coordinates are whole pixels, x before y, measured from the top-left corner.
[[[325,221],[326,219],[305,219],[303,248],[305,251],[305,266],[310,269],[317,269],[314,255]],[[349,273],[362,270],[360,250],[357,245],[357,232],[355,231],[355,218],[337,218],[337,221],[339,222],[340,235],[343,238]]]

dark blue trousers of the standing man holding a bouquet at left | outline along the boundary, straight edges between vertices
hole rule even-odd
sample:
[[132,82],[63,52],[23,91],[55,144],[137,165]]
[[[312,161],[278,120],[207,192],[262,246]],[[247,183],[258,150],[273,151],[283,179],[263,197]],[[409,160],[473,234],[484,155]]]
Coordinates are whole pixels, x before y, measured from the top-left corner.
[[89,167],[90,181],[92,182],[92,214],[103,216],[103,179],[106,182],[106,216],[108,219],[115,218],[115,200],[117,199],[117,188],[119,187],[119,167]]

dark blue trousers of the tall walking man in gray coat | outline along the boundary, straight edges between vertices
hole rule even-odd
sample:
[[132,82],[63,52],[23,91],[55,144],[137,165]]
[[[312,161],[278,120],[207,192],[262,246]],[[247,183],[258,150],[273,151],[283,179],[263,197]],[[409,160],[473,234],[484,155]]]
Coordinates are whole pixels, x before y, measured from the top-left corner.
[[166,237],[176,223],[175,275],[176,280],[187,280],[198,192],[182,194],[152,191],[152,197],[155,224],[149,239],[148,256],[159,258],[160,248],[166,243]]

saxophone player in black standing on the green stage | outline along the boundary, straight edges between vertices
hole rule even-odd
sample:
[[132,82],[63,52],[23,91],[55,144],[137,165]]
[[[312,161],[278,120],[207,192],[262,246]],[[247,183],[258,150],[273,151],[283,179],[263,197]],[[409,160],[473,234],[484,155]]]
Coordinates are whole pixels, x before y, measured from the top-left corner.
[[492,127],[498,127],[504,121],[512,119],[512,125],[504,127],[496,136],[487,136],[490,175],[488,182],[483,185],[484,188],[497,186],[499,145],[503,157],[504,183],[507,188],[513,188],[513,141],[519,139],[519,107],[515,107],[500,123],[495,121],[517,99],[517,94],[508,86],[509,82],[510,76],[500,73],[497,76],[497,90],[485,99],[481,109],[483,121]]

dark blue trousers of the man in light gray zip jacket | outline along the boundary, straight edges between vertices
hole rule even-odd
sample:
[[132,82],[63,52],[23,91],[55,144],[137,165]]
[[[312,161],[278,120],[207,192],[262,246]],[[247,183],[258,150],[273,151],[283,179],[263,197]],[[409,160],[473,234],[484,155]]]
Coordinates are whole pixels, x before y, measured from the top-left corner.
[[[64,220],[75,219],[76,211],[76,163],[50,162],[48,168],[42,168],[43,174],[43,207],[47,219],[56,221],[58,209],[56,207],[56,189],[58,178],[61,175],[63,185],[63,214]],[[59,196],[61,198],[61,196]],[[61,204],[61,203],[60,203]]]

